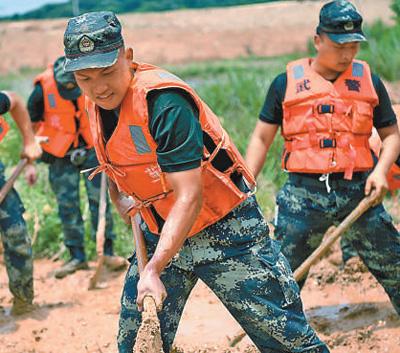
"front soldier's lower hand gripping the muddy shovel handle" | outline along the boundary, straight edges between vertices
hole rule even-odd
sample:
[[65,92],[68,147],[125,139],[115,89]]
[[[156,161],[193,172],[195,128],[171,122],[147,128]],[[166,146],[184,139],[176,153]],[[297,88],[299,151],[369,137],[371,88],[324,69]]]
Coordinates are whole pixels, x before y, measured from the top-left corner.
[[147,296],[154,299],[157,311],[161,311],[163,301],[167,297],[167,291],[156,272],[147,271],[145,268],[143,273],[140,275],[137,289],[138,296],[136,303],[139,311],[143,311],[143,300]]

